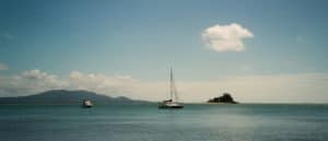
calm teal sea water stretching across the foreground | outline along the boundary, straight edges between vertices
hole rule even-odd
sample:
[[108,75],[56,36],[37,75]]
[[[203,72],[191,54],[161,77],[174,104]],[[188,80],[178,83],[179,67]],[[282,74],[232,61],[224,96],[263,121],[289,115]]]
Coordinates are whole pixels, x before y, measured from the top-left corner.
[[328,105],[0,105],[1,141],[328,141]]

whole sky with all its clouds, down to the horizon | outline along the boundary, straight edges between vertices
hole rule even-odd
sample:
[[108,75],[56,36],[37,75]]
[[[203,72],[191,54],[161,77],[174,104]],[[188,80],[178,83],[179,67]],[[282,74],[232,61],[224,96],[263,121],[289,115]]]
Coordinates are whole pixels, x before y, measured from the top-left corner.
[[325,0],[1,0],[0,96],[328,102]]

